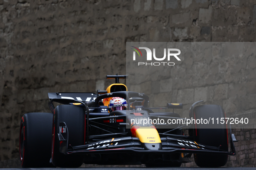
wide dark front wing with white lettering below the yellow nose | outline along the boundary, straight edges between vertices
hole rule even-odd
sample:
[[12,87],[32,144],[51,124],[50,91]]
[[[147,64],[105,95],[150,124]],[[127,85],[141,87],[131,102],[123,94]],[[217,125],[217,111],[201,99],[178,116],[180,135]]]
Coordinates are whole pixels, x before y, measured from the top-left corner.
[[[60,122],[60,125],[65,125]],[[140,153],[140,154],[171,154],[171,153],[196,153],[196,154],[226,154],[235,155],[233,136],[230,129],[230,152],[221,150],[220,147],[207,146],[194,142],[185,136],[162,137],[161,143],[143,143],[136,137],[111,138],[92,142],[87,145],[68,145],[68,127],[66,133],[58,134],[60,141],[59,151],[63,154],[107,154],[107,153]]]

